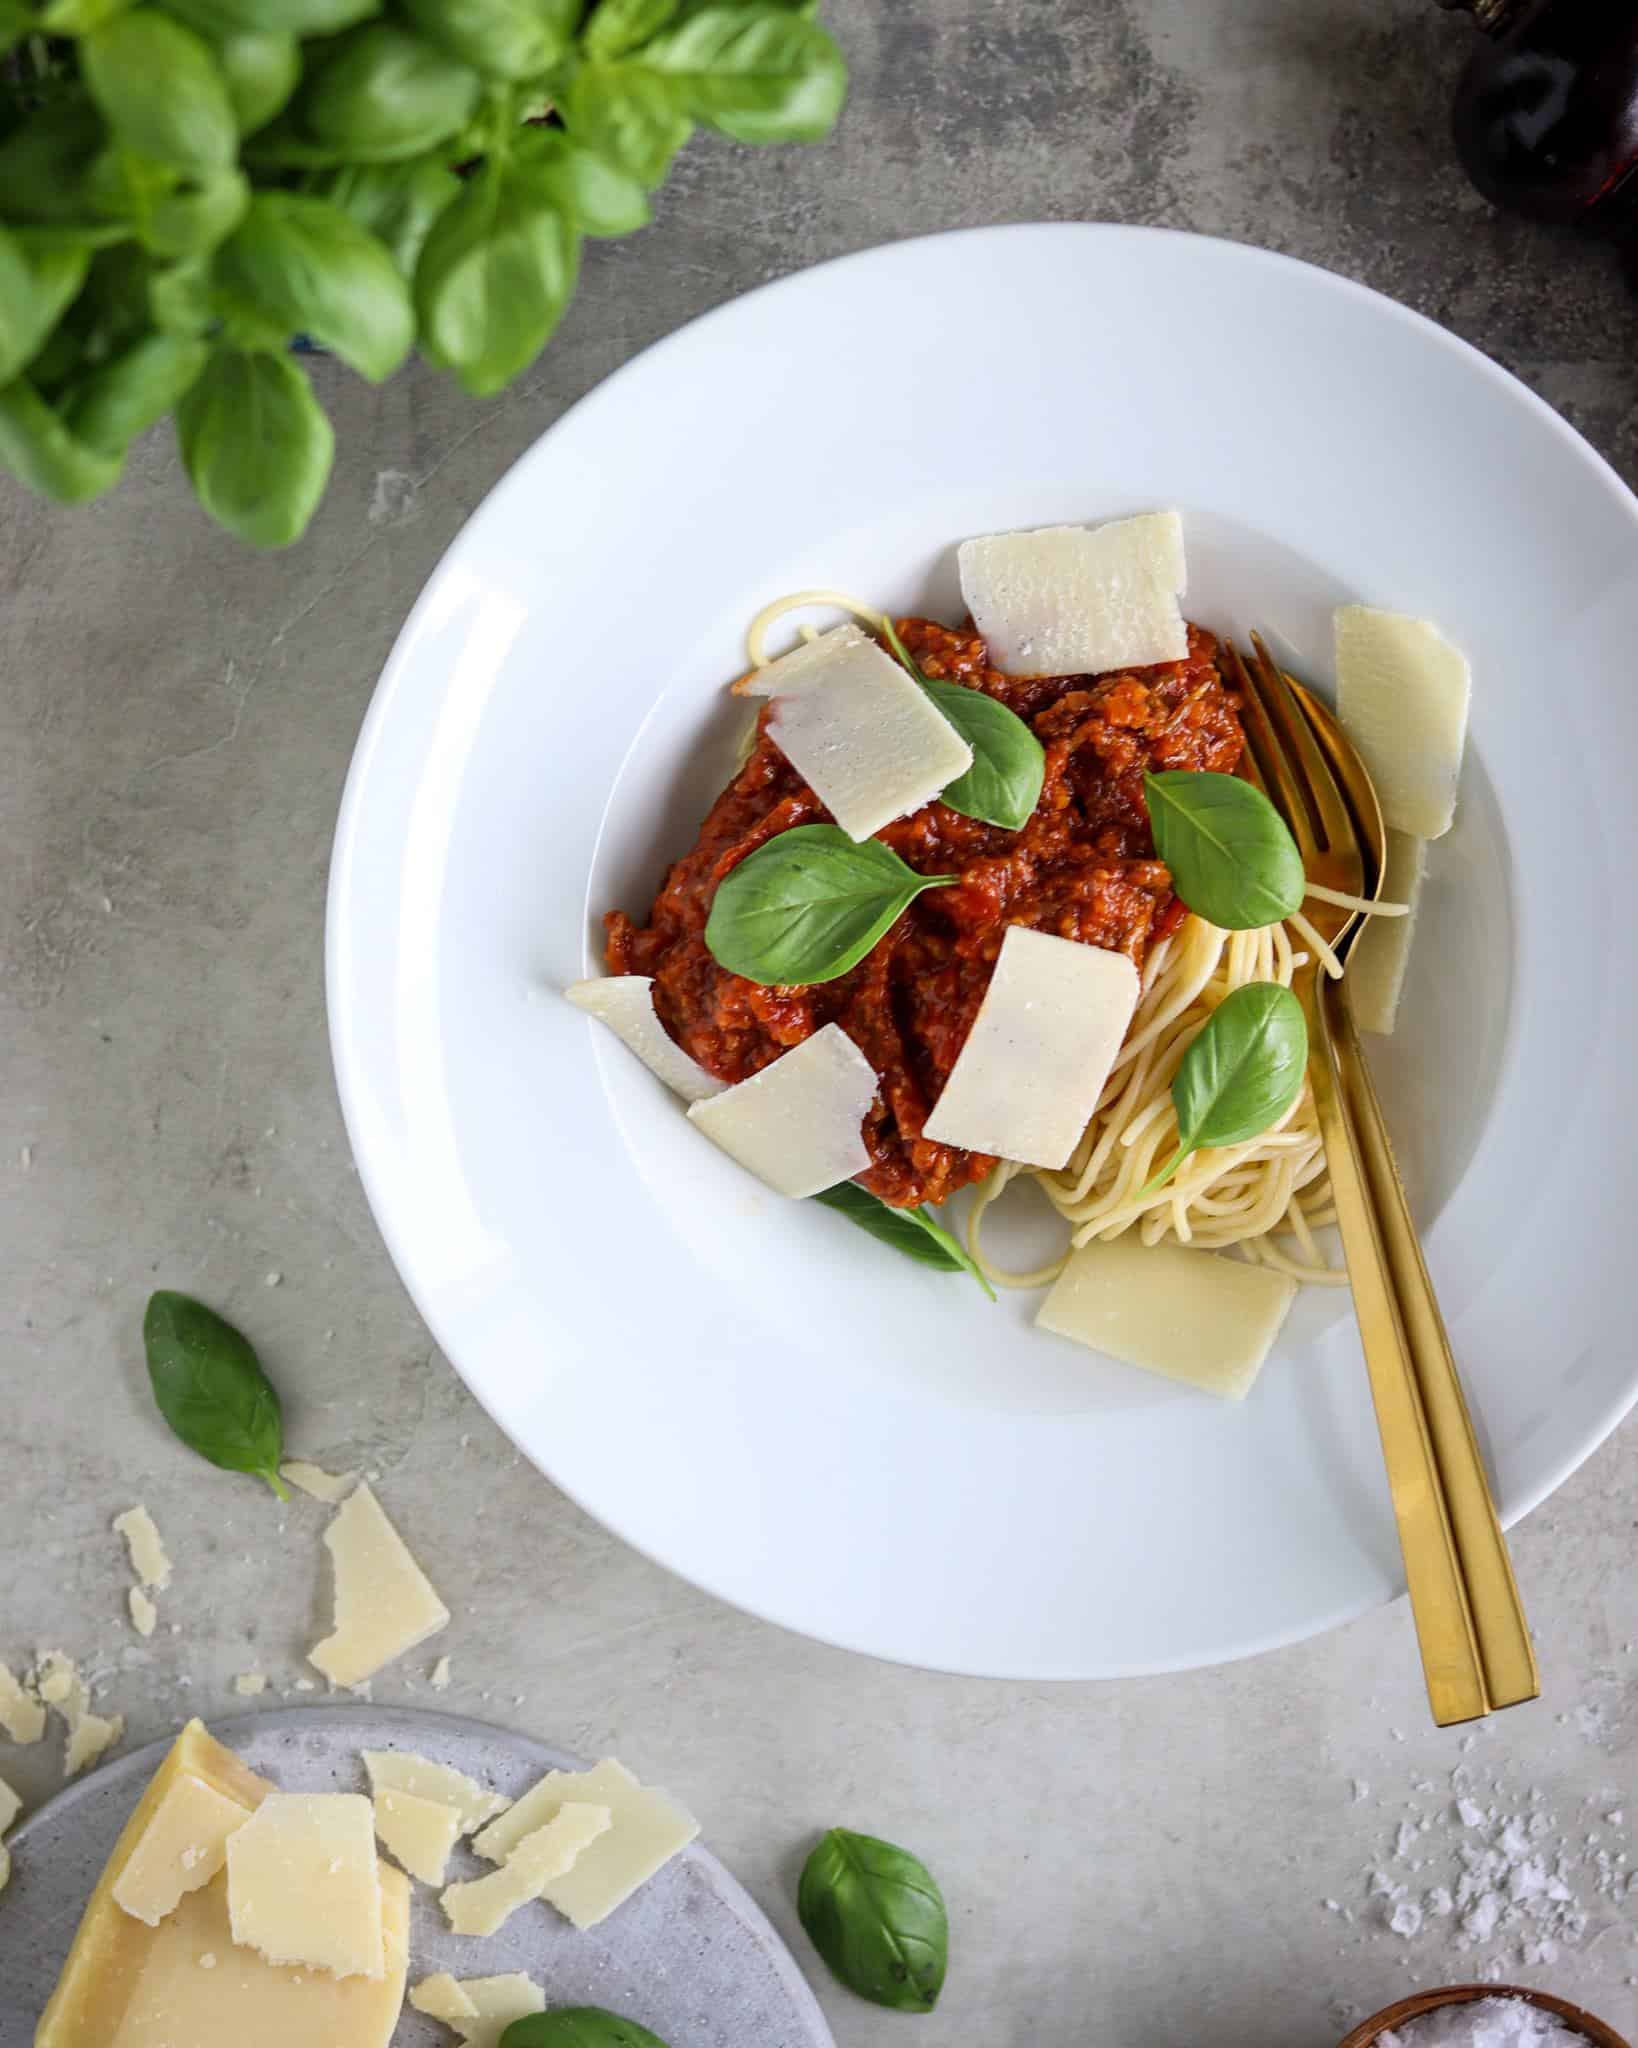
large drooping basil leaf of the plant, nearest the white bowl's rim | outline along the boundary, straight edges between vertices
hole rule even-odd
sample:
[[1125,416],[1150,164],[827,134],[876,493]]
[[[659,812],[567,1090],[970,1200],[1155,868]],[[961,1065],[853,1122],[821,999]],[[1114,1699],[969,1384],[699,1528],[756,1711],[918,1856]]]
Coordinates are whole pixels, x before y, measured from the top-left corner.
[[489,160],[465,182],[416,264],[422,354],[491,397],[551,340],[573,297],[579,238],[551,197]]

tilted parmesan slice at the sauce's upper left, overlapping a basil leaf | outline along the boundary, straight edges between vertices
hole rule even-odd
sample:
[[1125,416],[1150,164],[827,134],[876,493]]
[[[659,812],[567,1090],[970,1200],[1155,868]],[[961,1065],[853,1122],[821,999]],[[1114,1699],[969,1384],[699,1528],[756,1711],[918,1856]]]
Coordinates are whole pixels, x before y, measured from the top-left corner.
[[833,627],[741,684],[770,696],[768,737],[850,840],[919,811],[973,766],[928,692],[858,627]]

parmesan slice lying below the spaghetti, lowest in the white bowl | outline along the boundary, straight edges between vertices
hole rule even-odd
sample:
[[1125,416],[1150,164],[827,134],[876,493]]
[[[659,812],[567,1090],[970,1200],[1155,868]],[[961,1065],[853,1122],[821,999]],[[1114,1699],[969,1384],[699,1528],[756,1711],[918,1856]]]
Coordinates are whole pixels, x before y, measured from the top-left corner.
[[1169,1380],[1243,1401],[1296,1296],[1296,1280],[1134,1235],[1069,1260],[1036,1323]]

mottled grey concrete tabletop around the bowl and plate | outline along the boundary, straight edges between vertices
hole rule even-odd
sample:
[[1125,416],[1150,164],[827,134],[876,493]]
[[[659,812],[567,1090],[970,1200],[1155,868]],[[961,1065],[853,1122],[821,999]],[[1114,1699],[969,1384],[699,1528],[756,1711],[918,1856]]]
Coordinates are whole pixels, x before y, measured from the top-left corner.
[[[133,1741],[227,1710],[250,1667],[301,1698],[324,1511],[276,1513],[180,1456],[145,1399],[141,1303],[156,1282],[195,1288],[254,1331],[295,1450],[381,1473],[457,1612],[440,1704],[618,1745],[702,1812],[799,1952],[815,1829],[848,1821],[925,1855],[954,1915],[946,1999],[911,2021],[819,1980],[844,2048],[1325,2048],[1355,2013],[1480,1964],[1634,2034],[1638,1946],[1609,1880],[1613,1858],[1638,1860],[1632,1430],[1519,1532],[1548,1696],[1470,1749],[1425,1724],[1403,1610],[1192,1677],[928,1677],[745,1620],[586,1522],[434,1354],[364,1210],[321,1012],[326,858],[364,702],[506,465],[690,315],[921,229],[1198,227],[1448,322],[1638,479],[1634,301],[1603,252],[1468,193],[1446,150],[1468,29],[1431,0],[829,12],[856,78],[833,143],[694,143],[655,227],[588,252],[565,330],[508,397],[319,367],[340,461],[291,553],[209,528],[168,436],[78,514],[0,485],[0,1657],[86,1659]],[[121,1622],[109,1532],[135,1497],[178,1561],[147,1645]],[[377,1698],[428,1702],[424,1665]],[[37,1800],[55,1751],[0,1743],[0,1774]],[[1448,1878],[1456,1767],[1480,1769],[1503,1812],[1534,1794],[1568,1835],[1587,1925],[1560,1927],[1554,1954],[1464,1954],[1450,1921],[1398,1937],[1368,1898],[1374,1870],[1413,1896]],[[1624,1802],[1632,1823],[1603,1819]],[[1394,1860],[1407,1806],[1429,1831]]]

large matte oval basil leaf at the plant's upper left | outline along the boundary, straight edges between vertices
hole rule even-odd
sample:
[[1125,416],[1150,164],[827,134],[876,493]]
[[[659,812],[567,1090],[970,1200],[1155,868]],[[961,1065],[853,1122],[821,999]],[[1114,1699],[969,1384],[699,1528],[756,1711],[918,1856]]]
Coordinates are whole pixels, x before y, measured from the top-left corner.
[[233,102],[211,45],[160,8],[129,8],[82,37],[80,70],[127,150],[195,174],[238,158]]

